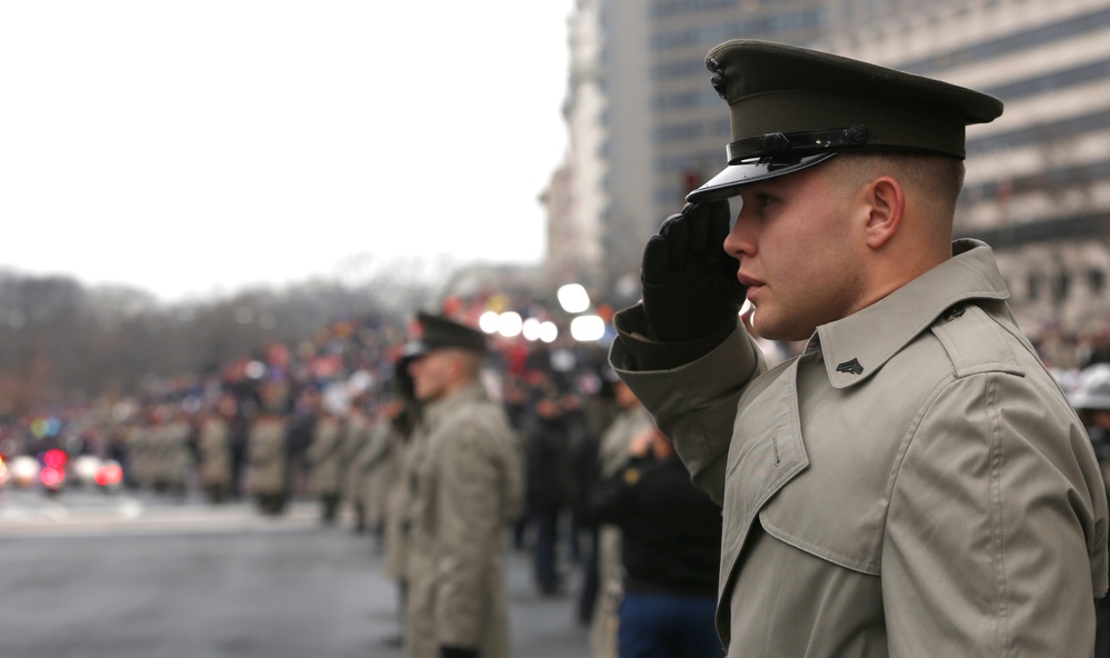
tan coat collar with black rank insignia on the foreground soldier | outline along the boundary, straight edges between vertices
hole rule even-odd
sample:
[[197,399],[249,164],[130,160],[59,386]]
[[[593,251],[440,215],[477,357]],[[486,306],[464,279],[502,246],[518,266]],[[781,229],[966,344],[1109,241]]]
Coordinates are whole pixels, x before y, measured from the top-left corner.
[[866,309],[818,327],[806,351],[823,352],[832,387],[848,388],[868,379],[960,302],[1008,297],[991,248],[957,240],[952,258]]

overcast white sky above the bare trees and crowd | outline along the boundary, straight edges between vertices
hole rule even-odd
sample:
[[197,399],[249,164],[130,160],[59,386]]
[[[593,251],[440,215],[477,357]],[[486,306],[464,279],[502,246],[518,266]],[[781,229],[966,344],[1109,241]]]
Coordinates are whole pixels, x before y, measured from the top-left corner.
[[537,262],[572,3],[2,2],[0,268],[180,301]]

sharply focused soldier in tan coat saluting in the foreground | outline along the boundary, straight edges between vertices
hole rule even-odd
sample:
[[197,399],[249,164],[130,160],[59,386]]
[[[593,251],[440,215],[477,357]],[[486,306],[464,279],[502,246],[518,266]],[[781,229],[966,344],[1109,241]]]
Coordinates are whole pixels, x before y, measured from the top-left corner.
[[[728,656],[1091,656],[1098,462],[991,249],[952,241],[1001,101],[767,41],[706,64],[728,166],[648,242],[610,359],[723,505]],[[806,347],[768,369],[756,336]]]

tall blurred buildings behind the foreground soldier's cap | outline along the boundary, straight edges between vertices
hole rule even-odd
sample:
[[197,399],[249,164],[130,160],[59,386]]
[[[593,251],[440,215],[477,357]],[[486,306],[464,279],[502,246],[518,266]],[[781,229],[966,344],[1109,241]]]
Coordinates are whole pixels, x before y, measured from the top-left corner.
[[702,60],[727,39],[813,47],[1006,103],[968,131],[957,233],[990,243],[1022,329],[1110,313],[1110,1],[579,0],[566,161],[544,193],[547,275],[621,305],[644,241],[724,166],[729,120]]

